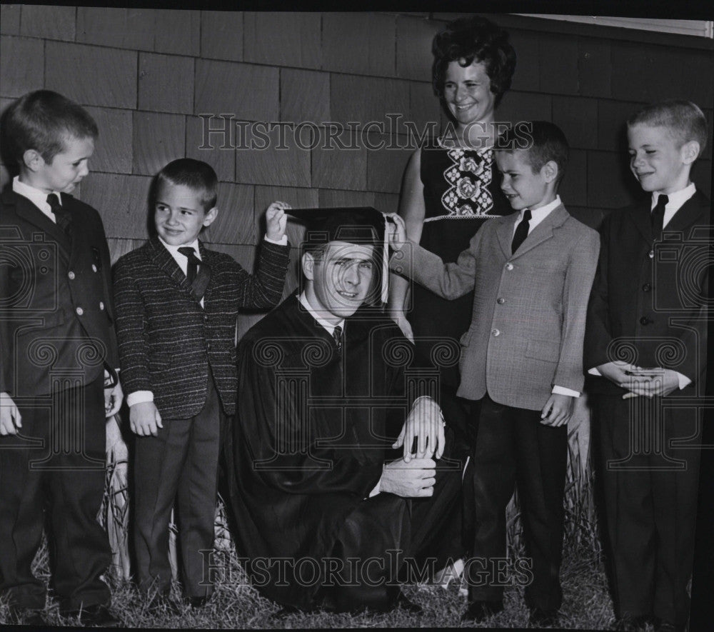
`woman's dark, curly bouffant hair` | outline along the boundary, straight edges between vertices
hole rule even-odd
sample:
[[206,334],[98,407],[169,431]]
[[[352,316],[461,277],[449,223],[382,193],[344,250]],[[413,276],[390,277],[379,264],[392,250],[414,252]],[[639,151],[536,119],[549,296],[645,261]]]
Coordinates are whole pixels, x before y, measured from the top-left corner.
[[508,42],[508,32],[491,20],[475,16],[449,22],[446,30],[434,37],[431,52],[434,56],[432,86],[442,103],[446,69],[452,61],[458,61],[464,68],[474,61],[483,61],[486,74],[491,79],[491,92],[496,95],[497,107],[503,94],[511,87],[516,70],[516,51]]

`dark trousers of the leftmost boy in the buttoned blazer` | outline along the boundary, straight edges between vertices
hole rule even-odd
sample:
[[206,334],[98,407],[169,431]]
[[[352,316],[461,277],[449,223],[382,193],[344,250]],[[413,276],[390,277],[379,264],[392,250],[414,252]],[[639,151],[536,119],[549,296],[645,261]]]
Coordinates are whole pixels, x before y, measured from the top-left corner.
[[0,437],[0,593],[19,608],[44,608],[31,564],[49,518],[54,590],[61,611],[109,603],[100,576],[111,563],[97,522],[104,495],[104,383],[18,399],[21,436]]

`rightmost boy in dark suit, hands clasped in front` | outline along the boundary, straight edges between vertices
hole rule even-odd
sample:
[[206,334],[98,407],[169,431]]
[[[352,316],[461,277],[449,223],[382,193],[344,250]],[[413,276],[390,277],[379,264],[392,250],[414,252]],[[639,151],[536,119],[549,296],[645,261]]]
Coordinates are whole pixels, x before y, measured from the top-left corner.
[[[628,119],[630,169],[650,196],[613,211],[588,307],[615,613],[683,629],[692,571],[706,368],[710,203],[690,181],[707,138],[689,101]],[[699,263],[698,263],[699,262]]]

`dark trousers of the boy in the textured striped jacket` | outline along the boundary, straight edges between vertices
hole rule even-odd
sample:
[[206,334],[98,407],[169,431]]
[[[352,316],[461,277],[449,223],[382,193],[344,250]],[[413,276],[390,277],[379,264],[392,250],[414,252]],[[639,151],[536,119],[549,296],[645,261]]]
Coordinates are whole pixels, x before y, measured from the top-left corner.
[[202,585],[201,551],[213,548],[222,420],[209,375],[206,403],[198,415],[164,419],[157,436],[136,437],[134,548],[137,580],[145,593],[168,593],[171,588],[169,521],[176,501],[183,589],[188,597],[213,592],[213,586]]

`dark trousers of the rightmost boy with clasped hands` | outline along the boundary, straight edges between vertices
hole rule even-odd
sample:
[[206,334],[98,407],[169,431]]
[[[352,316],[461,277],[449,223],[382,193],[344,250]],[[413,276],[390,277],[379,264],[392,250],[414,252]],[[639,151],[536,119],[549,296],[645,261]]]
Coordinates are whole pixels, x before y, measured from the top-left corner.
[[[662,398],[594,398],[599,475],[618,616],[683,626],[694,556],[700,411]],[[666,398],[671,404],[676,398]],[[670,443],[679,440],[683,445]]]

